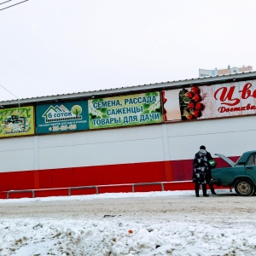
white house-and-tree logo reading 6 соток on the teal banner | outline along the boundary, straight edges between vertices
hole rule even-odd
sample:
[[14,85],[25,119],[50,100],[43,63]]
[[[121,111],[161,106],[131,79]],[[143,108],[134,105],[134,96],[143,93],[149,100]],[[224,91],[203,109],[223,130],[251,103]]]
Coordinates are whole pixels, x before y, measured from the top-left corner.
[[80,115],[82,113],[82,107],[79,105],[74,105],[71,110],[68,110],[65,106],[56,105],[50,106],[42,115],[45,123],[49,122],[59,122],[82,119]]

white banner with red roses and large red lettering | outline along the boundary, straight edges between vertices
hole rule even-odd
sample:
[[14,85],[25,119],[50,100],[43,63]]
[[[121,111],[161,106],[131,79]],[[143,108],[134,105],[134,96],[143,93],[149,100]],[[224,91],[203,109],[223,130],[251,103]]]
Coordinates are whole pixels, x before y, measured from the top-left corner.
[[166,121],[214,119],[256,113],[256,80],[164,90]]

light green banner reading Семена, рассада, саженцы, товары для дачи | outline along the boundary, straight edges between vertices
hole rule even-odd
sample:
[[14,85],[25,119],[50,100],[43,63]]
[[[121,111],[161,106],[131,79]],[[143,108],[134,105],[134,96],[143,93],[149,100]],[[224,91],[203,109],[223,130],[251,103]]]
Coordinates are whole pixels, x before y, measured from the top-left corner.
[[160,92],[88,101],[90,129],[160,123]]

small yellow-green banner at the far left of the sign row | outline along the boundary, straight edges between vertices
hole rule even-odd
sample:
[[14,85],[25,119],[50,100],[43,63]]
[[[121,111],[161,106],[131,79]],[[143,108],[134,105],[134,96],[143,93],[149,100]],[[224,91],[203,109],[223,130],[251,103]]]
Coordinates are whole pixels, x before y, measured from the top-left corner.
[[34,134],[34,108],[5,108],[0,110],[0,137],[14,137]]

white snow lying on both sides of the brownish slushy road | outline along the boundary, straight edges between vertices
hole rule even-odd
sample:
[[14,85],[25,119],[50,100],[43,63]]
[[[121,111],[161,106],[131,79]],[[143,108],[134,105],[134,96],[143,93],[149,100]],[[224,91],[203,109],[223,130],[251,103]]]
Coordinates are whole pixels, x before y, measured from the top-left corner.
[[[183,195],[189,193],[194,195],[194,192]],[[136,198],[139,195],[142,196],[141,193],[131,196]],[[143,193],[145,198],[152,195],[166,196],[166,193]],[[178,193],[170,192],[168,195]],[[120,198],[127,195],[105,196]],[[39,201],[57,200],[60,203],[61,199],[70,201],[78,198],[80,201],[96,201],[99,196],[42,198]],[[0,209],[9,203],[28,201],[36,199],[0,201]],[[247,222],[247,219],[242,221],[241,213],[236,217],[237,224],[236,219],[229,222],[227,217],[221,225],[207,224],[203,214],[198,219],[187,216],[189,221],[182,218],[177,221],[168,214],[150,212],[67,219],[61,216],[61,208],[58,218],[10,216],[0,221],[0,255],[254,255],[255,224]]]

